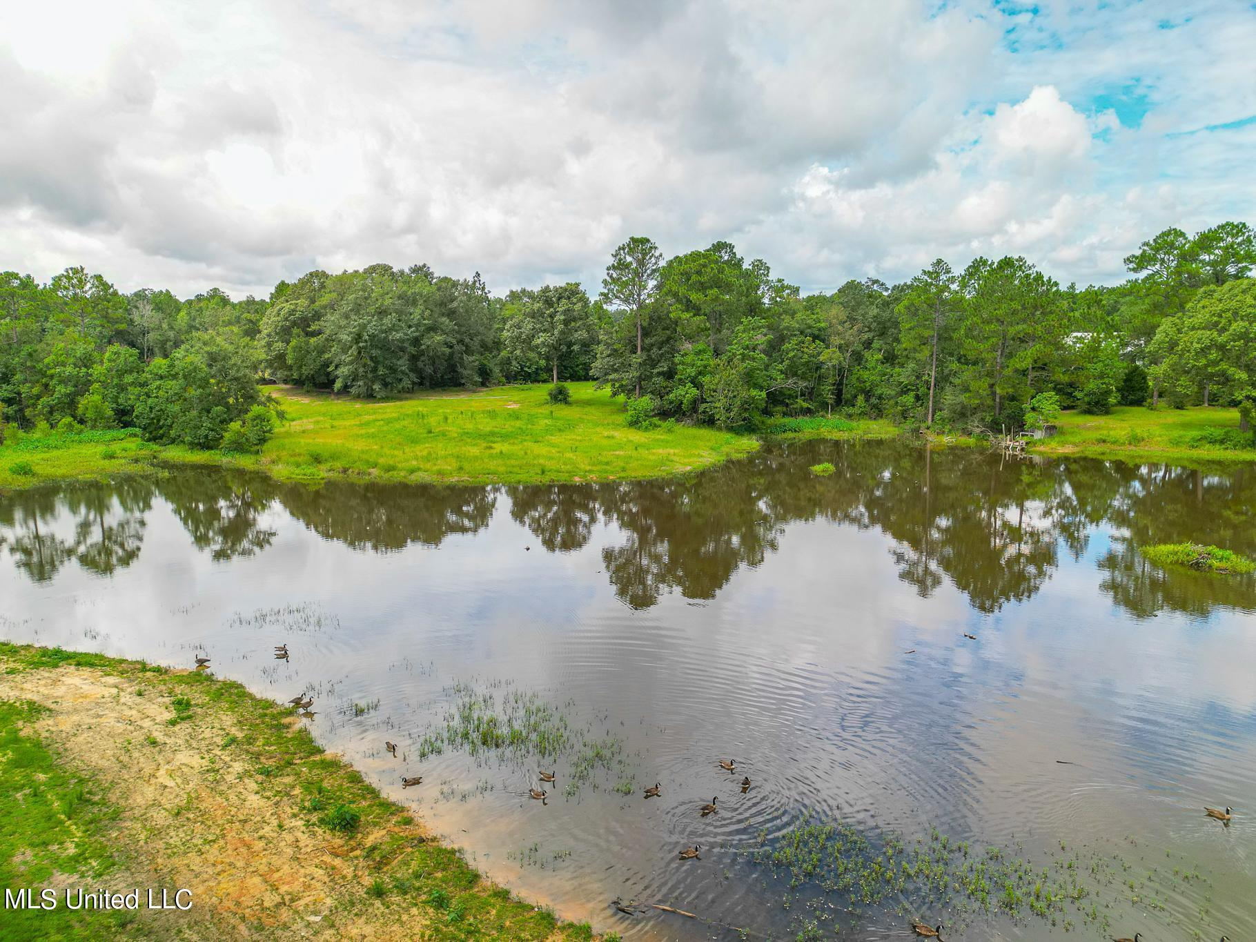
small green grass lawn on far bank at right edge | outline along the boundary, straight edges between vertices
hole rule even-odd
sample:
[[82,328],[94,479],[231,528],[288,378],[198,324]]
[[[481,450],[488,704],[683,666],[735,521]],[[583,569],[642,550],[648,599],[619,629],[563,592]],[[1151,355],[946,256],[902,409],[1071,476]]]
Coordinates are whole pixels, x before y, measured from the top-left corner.
[[[1065,412],[1059,435],[1034,443],[1037,455],[1084,455],[1128,461],[1256,461],[1251,436],[1238,432],[1238,411],[1196,407],[1152,411],[1117,407],[1107,416]],[[1236,447],[1237,446],[1237,447]]]

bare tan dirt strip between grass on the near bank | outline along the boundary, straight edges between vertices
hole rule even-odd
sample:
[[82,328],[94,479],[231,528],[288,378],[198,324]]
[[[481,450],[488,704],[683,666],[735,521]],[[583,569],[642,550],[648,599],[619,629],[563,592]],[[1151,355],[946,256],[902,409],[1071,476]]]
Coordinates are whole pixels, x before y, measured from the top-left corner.
[[[171,700],[127,677],[62,667],[0,676],[0,697],[49,707],[36,723],[63,761],[108,789],[129,885],[192,891],[161,934],[193,938],[416,938],[425,913],[363,902],[369,868],[349,847],[263,794],[230,749],[230,713],[170,725]],[[195,707],[193,707],[195,710]],[[396,829],[391,829],[396,831]],[[426,839],[420,828],[413,835]],[[121,885],[121,884],[119,884]],[[403,918],[399,918],[403,917]],[[149,922],[149,928],[153,923]]]

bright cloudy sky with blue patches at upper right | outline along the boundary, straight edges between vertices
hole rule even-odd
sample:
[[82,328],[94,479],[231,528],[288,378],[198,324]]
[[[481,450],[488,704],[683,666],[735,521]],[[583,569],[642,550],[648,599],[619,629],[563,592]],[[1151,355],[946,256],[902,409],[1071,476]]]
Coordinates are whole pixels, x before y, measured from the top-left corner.
[[1250,0],[0,0],[0,269],[265,295],[426,261],[805,290],[1256,222]]

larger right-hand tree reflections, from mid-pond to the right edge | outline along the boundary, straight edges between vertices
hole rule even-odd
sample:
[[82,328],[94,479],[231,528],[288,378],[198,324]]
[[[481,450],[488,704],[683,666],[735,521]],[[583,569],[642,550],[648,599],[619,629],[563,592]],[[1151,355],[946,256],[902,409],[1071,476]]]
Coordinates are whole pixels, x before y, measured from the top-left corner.
[[[821,458],[834,475],[810,474]],[[603,548],[603,563],[617,595],[638,608],[672,590],[710,599],[739,566],[775,550],[788,524],[823,519],[892,538],[899,577],[921,595],[950,580],[976,609],[995,612],[1031,598],[1060,553],[1080,559],[1100,525],[1127,550],[1194,539],[1251,554],[1253,487],[1247,470],[1009,463],[973,450],[811,443],[693,477],[515,489],[511,499],[514,517],[550,550],[585,545],[599,517],[613,524],[619,536]],[[1252,605],[1251,580],[1216,585],[1192,573],[1162,573],[1137,553],[1109,553],[1102,569],[1100,588],[1135,614]]]

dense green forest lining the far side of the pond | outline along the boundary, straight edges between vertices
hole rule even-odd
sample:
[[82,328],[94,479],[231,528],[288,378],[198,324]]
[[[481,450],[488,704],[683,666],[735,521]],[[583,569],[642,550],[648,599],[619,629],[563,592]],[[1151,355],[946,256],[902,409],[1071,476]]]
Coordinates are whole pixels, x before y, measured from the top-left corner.
[[128,427],[153,442],[255,450],[275,379],[353,396],[595,379],[627,421],[756,428],[887,417],[995,433],[1060,408],[1256,406],[1256,234],[1168,229],[1118,286],[1061,286],[1024,257],[941,259],[909,281],[803,295],[728,242],[664,260],[615,249],[602,290],[517,289],[371,265],[281,281],[266,300],[214,289],[119,293],[69,268],[0,273],[0,436]]

